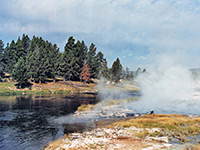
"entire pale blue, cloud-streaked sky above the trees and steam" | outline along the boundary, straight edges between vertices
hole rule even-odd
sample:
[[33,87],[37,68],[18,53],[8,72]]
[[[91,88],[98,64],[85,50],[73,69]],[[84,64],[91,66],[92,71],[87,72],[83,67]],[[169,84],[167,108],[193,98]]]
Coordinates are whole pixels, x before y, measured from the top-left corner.
[[60,50],[69,36],[94,43],[132,70],[159,56],[200,66],[199,0],[0,0],[0,39],[42,36]]

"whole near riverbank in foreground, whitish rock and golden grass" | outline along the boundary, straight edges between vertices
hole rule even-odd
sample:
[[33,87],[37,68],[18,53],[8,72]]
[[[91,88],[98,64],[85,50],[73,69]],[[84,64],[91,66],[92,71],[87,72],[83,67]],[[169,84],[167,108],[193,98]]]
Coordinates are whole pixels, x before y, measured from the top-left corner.
[[[143,115],[121,119],[109,125],[83,133],[72,133],[50,143],[45,150],[55,149],[109,149],[109,150],[159,150],[159,149],[193,149],[200,146],[188,144],[187,137],[200,134],[200,118],[186,115]],[[170,142],[179,140],[179,146]]]

